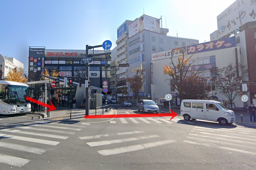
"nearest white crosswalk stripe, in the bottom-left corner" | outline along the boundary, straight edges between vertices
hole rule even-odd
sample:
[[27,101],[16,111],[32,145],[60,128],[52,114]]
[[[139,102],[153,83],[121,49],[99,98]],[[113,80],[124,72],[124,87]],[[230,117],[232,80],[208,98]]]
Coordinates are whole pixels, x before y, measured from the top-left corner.
[[21,167],[22,165],[25,165],[29,161],[30,160],[28,159],[23,159],[15,156],[10,156],[10,155],[4,155],[0,153],[0,162],[4,164]]

